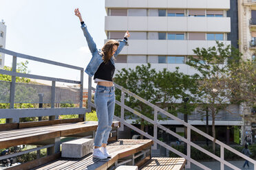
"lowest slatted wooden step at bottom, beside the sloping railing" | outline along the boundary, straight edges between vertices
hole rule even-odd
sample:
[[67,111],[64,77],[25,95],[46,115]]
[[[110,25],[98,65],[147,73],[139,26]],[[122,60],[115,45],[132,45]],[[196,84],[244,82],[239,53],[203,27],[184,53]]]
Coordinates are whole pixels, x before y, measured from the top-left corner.
[[153,170],[153,169],[168,169],[168,170],[180,170],[184,169],[186,160],[184,158],[161,158],[153,157],[145,165],[142,166],[141,170]]

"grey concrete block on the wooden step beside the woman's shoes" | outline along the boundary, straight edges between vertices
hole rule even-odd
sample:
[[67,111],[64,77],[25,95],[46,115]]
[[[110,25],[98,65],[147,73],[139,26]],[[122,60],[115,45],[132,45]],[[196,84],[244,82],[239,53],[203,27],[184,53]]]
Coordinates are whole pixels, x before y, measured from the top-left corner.
[[62,143],[61,156],[65,158],[82,158],[92,153],[94,148],[94,139],[78,138],[72,141]]

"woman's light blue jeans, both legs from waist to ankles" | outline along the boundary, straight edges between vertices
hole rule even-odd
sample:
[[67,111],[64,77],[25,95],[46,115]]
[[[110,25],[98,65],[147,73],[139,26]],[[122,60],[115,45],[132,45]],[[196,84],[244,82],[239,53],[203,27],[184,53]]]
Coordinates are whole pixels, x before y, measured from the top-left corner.
[[98,127],[94,139],[94,146],[100,147],[107,143],[109,133],[112,130],[112,122],[115,110],[115,88],[97,85],[94,104],[98,117]]

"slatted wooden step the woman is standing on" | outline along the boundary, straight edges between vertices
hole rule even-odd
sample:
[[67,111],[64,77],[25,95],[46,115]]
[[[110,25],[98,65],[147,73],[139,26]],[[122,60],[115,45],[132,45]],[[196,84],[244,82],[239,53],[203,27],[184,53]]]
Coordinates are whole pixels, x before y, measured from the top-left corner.
[[[122,143],[120,143],[122,141]],[[121,145],[120,145],[121,144]],[[114,168],[115,165],[118,167],[118,162],[129,160],[134,155],[139,154],[143,150],[151,149],[153,141],[151,140],[131,140],[131,139],[120,139],[114,143],[107,145],[107,150],[111,154],[112,158],[106,160],[99,160],[92,158],[92,154],[84,156],[83,158],[59,158],[54,162],[41,165],[34,169],[88,169],[88,170],[99,170],[99,169],[109,169]],[[147,160],[146,157],[134,164],[138,165],[141,161]],[[133,161],[128,162],[128,165],[131,165]]]

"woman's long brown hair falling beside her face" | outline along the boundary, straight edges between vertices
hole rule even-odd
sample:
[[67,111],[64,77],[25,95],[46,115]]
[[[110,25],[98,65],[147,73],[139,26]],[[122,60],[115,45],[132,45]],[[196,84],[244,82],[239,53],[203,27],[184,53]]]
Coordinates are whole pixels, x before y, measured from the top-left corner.
[[103,60],[107,63],[110,58],[112,57],[111,54],[113,53],[113,46],[119,46],[119,42],[117,40],[108,40],[105,45],[103,46],[102,53],[103,53]]

